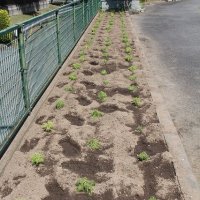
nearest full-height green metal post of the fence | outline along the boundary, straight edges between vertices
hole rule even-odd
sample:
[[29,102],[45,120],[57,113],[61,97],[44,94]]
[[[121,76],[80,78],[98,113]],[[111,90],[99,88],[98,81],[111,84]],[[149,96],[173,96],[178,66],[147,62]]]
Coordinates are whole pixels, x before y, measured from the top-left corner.
[[26,58],[25,58],[25,41],[24,41],[24,33],[23,33],[23,25],[17,29],[18,35],[18,44],[19,44],[19,61],[20,61],[20,68],[21,68],[21,78],[22,78],[22,92],[24,98],[24,104],[26,110],[30,112],[30,96],[28,90],[28,67],[26,65]]

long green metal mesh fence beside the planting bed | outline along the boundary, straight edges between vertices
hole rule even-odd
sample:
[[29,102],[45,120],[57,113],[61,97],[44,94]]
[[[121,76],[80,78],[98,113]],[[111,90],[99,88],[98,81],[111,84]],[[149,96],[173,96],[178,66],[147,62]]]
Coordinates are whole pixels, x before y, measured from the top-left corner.
[[0,155],[99,7],[76,1],[0,31]]

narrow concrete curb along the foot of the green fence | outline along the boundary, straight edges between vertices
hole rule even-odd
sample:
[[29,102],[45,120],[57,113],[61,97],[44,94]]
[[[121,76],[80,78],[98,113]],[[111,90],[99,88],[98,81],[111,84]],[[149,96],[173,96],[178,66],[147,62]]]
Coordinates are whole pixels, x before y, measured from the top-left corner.
[[26,121],[23,123],[22,127],[20,128],[19,132],[17,133],[17,135],[13,139],[12,143],[10,144],[10,146],[8,147],[6,152],[4,153],[3,157],[0,160],[0,176],[3,174],[7,164],[11,160],[15,151],[19,148],[20,144],[24,142],[27,131],[28,131],[29,127],[31,126],[31,124],[36,119],[40,108],[45,103],[45,101],[48,98],[48,96],[50,95],[51,91],[56,86],[57,82],[59,81],[60,75],[63,73],[64,69],[68,66],[70,59],[73,57],[73,55],[75,54],[75,52],[79,48],[80,44],[85,39],[85,36],[90,31],[90,29],[93,26],[93,23],[96,20],[96,18],[98,17],[98,15],[99,14],[97,13],[97,15],[93,18],[93,20],[91,21],[91,23],[89,24],[89,26],[87,27],[87,29],[85,30],[85,32],[83,33],[83,35],[81,36],[79,41],[77,42],[76,46],[74,47],[72,52],[69,54],[69,56],[67,57],[67,59],[65,60],[65,62],[62,65],[62,67],[57,72],[54,79],[49,84],[48,88],[45,90],[45,92],[43,93],[41,98],[38,100],[37,104],[35,105],[35,107],[31,111],[30,115],[27,117]]

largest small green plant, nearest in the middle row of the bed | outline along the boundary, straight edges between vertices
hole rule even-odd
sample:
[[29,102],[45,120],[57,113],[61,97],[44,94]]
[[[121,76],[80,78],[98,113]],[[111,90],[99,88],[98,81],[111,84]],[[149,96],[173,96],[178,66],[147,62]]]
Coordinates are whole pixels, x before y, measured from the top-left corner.
[[88,195],[91,195],[95,187],[95,182],[87,179],[86,177],[80,178],[76,182],[76,190],[78,192],[85,192]]

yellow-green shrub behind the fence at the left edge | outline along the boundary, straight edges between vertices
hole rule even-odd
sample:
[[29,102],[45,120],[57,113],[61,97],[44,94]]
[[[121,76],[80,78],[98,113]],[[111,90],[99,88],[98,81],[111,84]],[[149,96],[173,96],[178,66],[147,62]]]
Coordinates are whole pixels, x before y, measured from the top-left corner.
[[[0,30],[6,29],[10,26],[10,16],[8,11],[0,10]],[[10,42],[12,39],[12,33],[0,36],[0,42]]]

